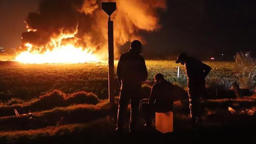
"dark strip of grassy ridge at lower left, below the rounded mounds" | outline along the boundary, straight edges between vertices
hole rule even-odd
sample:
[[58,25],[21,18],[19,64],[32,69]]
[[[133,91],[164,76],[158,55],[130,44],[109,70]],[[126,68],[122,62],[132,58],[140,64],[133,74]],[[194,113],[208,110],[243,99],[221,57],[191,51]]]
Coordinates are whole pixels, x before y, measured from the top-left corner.
[[0,131],[30,130],[53,125],[87,123],[110,116],[111,107],[106,100],[97,105],[72,105],[53,108],[20,116],[0,117]]

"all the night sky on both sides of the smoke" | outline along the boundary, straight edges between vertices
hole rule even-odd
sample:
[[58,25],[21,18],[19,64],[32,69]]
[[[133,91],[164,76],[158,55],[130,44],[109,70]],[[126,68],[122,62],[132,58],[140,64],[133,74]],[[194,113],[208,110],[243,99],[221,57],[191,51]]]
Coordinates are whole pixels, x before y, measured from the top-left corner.
[[[39,0],[0,0],[0,46],[20,45],[26,31],[23,20],[37,10]],[[256,47],[255,0],[167,0],[167,11],[161,11],[162,29],[140,32],[147,44],[144,56],[176,57],[187,52],[201,59],[229,58],[237,51]]]

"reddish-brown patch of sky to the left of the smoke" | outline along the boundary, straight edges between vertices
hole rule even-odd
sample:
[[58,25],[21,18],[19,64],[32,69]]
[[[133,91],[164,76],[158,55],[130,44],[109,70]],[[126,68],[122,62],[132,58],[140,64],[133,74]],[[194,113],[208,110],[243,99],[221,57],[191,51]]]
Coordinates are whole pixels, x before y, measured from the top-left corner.
[[21,33],[26,31],[23,22],[28,12],[37,10],[39,0],[0,0],[0,46],[17,47]]

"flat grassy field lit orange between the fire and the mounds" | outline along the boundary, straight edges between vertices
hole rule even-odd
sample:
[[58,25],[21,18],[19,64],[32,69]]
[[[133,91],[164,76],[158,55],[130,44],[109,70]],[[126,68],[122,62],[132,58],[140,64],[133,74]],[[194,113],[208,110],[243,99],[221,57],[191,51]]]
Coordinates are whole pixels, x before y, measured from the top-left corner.
[[[212,67],[207,81],[224,84],[226,87],[234,81],[233,62],[206,62]],[[115,62],[115,65],[117,61]],[[147,60],[148,82],[153,81],[156,73],[181,87],[186,87],[184,66],[174,61]],[[180,66],[180,78],[177,78],[177,66]],[[108,96],[108,66],[106,62],[86,64],[20,64],[0,62],[0,100],[20,98],[30,100],[54,89],[65,93],[79,91],[93,92],[104,99]],[[118,82],[115,81],[116,95]]]

